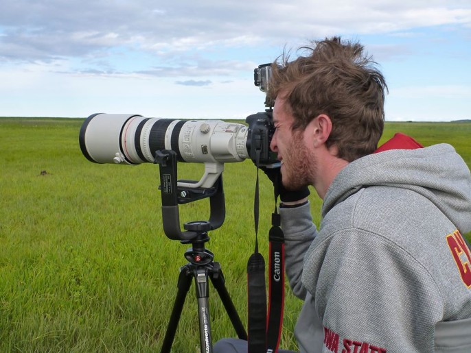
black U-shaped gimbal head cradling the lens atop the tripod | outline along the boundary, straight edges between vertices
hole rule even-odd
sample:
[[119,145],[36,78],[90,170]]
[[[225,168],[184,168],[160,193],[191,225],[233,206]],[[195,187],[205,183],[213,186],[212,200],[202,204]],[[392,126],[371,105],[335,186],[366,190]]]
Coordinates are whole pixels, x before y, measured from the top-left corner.
[[[222,226],[226,216],[224,192],[222,191],[222,174],[220,174],[213,186],[209,188],[198,186],[198,182],[181,180],[176,178],[177,154],[170,149],[155,152],[154,163],[159,164],[160,189],[162,197],[162,223],[163,232],[172,240],[183,243],[203,241],[207,238],[209,230],[215,230]],[[179,204],[187,204],[198,199],[209,197],[209,220],[194,221],[180,228]]]

